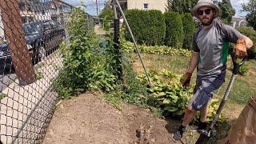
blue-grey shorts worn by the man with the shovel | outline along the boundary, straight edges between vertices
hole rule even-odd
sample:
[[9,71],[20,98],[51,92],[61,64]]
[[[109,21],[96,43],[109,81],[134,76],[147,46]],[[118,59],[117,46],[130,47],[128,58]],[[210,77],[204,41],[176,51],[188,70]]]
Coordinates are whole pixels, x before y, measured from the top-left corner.
[[196,86],[194,87],[194,95],[190,99],[189,106],[192,106],[193,110],[201,110],[207,106],[214,93],[225,81],[225,75],[226,73],[207,76],[198,75]]

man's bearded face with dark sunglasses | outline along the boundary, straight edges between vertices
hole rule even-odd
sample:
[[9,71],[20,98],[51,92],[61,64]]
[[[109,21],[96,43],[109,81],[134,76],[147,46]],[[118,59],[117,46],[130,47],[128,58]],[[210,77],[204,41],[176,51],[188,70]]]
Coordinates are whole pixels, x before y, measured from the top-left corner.
[[198,16],[203,26],[210,26],[214,20],[214,11],[210,7],[200,7],[198,9]]

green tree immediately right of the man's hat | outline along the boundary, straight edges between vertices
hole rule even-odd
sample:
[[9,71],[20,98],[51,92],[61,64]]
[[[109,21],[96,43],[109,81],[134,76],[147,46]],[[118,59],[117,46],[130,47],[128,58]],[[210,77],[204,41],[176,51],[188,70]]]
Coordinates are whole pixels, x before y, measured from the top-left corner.
[[218,6],[222,10],[222,14],[220,15],[222,22],[230,24],[232,16],[235,14],[235,10],[231,5],[230,0],[222,0],[222,2],[218,2]]

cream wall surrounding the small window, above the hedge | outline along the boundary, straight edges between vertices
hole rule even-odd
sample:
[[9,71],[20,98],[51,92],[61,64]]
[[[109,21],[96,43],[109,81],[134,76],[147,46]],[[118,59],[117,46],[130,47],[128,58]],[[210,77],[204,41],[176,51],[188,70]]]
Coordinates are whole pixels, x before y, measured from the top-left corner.
[[127,0],[127,8],[145,10],[144,3],[148,3],[147,10],[161,10],[162,13],[166,12],[167,0]]

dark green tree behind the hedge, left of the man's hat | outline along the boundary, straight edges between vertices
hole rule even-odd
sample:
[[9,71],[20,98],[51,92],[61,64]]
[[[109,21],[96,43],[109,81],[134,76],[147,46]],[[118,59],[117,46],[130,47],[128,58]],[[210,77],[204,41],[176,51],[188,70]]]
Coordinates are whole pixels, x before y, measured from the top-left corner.
[[198,0],[167,0],[166,11],[174,11],[179,14],[191,13]]

